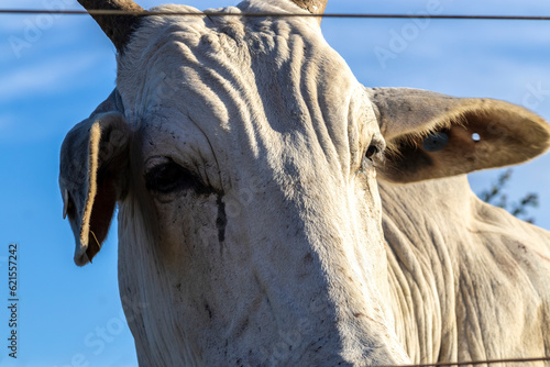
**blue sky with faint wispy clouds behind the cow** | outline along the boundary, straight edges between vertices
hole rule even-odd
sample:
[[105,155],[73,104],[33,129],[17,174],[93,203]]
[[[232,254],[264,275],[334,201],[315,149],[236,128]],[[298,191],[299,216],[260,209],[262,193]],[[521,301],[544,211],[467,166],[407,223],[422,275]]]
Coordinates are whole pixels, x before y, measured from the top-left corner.
[[[144,8],[162,2],[140,1]],[[187,1],[199,9],[238,1]],[[4,8],[80,9],[76,0],[19,1]],[[329,1],[328,12],[550,15],[540,0]],[[414,87],[525,104],[550,120],[550,22],[324,20],[329,43],[370,87]],[[416,31],[414,30],[417,27]],[[395,34],[405,44],[392,49]],[[14,40],[24,41],[24,46]],[[394,44],[395,46],[395,44]],[[393,52],[381,63],[376,49]],[[0,15],[0,365],[135,366],[117,287],[117,231],[94,265],[73,263],[62,219],[58,154],[65,134],[114,87],[114,48],[89,16]],[[550,229],[550,156],[515,168],[510,197],[538,192],[531,211]],[[470,176],[474,191],[498,170]],[[19,358],[7,355],[8,245],[19,244]]]

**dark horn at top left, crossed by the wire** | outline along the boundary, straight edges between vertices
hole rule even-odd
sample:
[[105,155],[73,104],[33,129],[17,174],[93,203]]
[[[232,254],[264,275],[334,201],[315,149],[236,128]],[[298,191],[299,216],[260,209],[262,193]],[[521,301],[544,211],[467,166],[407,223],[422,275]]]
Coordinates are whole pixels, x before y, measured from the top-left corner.
[[[78,0],[88,11],[90,10],[124,10],[144,11],[142,7],[132,0]],[[130,35],[138,27],[140,16],[138,15],[98,15],[91,14],[103,30],[105,34],[112,41],[114,47],[120,52],[130,41]]]

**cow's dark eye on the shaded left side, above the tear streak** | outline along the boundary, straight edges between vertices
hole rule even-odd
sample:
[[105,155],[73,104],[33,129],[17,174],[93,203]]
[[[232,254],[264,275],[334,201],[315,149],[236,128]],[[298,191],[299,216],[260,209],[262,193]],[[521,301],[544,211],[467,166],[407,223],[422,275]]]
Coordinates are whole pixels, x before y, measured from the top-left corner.
[[158,193],[170,193],[182,190],[194,190],[197,193],[208,191],[202,181],[188,169],[172,159],[154,166],[145,174],[147,190]]

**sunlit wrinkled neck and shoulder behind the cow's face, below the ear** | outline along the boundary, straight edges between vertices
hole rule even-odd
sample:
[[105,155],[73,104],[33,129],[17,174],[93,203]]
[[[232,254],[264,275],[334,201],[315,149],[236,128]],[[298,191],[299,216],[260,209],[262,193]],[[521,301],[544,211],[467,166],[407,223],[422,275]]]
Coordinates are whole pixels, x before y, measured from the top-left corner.
[[472,360],[549,347],[550,232],[481,201],[465,176],[380,188],[409,353]]

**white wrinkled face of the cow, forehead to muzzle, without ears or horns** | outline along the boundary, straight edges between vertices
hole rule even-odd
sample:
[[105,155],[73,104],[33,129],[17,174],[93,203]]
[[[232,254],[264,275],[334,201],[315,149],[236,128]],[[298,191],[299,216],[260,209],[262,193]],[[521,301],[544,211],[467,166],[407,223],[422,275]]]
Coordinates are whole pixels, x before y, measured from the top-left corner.
[[136,176],[169,157],[220,192],[152,196],[135,180],[120,204],[121,293],[148,302],[131,323],[141,364],[408,362],[363,159],[383,141],[316,20],[148,18],[119,58],[118,90],[141,136]]

